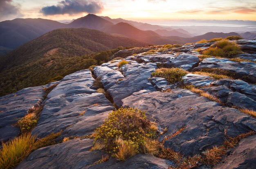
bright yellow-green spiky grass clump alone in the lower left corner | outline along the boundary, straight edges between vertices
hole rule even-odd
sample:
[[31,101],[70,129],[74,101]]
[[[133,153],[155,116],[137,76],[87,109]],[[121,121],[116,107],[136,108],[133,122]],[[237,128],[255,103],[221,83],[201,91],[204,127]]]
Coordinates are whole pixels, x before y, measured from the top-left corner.
[[0,168],[13,169],[32,151],[35,143],[35,136],[31,134],[22,134],[13,138],[7,143],[2,143],[0,150]]

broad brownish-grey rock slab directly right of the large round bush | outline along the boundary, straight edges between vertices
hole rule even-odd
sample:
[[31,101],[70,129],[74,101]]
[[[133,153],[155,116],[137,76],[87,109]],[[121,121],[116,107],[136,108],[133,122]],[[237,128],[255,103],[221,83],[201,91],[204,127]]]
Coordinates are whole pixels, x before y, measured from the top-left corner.
[[254,117],[220,106],[185,89],[174,89],[172,93],[132,95],[122,101],[123,107],[146,110],[146,114],[155,119],[160,127],[167,127],[162,138],[185,126],[180,134],[166,140],[164,145],[186,156],[222,145],[227,139],[225,130],[228,136],[256,130]]

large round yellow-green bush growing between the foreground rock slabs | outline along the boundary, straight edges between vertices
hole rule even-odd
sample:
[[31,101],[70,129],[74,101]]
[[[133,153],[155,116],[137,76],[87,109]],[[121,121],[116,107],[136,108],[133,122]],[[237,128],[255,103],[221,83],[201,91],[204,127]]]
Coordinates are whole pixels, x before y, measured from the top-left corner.
[[125,160],[139,152],[144,152],[148,139],[156,137],[157,127],[148,120],[145,111],[134,108],[119,108],[108,115],[95,130],[95,146],[106,149],[107,153]]

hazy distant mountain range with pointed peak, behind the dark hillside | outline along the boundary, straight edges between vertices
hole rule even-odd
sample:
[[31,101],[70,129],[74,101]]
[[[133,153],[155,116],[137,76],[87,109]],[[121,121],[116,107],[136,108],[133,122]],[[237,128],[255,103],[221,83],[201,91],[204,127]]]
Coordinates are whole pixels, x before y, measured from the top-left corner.
[[[121,18],[111,19],[93,14],[78,18],[68,24],[41,18],[27,18],[0,22],[0,55],[49,31],[60,28],[96,29],[106,33],[124,35],[151,44],[196,42],[194,40],[196,37],[193,37],[191,33],[184,29],[172,29],[171,27],[151,25]],[[207,36],[201,35],[200,38],[207,39]],[[223,36],[226,35],[223,34]],[[245,37],[248,39],[251,36],[254,37],[254,35],[246,35]],[[219,34],[211,34],[211,37],[219,37]]]

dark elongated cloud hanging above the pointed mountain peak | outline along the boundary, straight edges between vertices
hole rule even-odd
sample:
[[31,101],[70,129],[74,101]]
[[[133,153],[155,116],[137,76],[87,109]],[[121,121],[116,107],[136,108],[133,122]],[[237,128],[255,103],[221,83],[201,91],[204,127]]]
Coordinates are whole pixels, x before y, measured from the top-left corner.
[[43,7],[40,12],[44,15],[101,13],[104,9],[99,0],[63,0],[57,5]]

